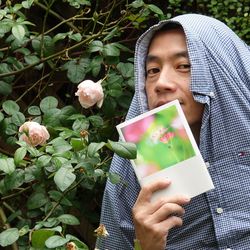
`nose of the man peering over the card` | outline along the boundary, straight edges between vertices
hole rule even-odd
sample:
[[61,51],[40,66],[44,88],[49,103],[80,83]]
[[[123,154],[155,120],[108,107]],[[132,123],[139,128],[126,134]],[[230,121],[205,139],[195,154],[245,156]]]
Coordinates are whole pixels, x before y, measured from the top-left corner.
[[174,76],[168,71],[162,71],[155,84],[156,92],[174,92],[177,85],[174,81]]

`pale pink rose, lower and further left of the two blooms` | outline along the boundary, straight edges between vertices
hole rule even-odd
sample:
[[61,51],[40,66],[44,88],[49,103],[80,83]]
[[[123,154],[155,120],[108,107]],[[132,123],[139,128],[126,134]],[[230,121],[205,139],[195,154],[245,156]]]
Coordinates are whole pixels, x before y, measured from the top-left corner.
[[37,122],[25,122],[19,132],[22,132],[20,140],[33,147],[43,145],[50,137],[48,130]]

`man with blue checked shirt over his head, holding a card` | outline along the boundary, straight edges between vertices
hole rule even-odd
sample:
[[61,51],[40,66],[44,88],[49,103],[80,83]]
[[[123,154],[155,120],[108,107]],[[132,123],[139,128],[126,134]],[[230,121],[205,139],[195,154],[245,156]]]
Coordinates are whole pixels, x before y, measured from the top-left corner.
[[187,14],[160,22],[138,40],[136,88],[127,119],[178,99],[207,162],[215,189],[150,202],[162,180],[140,188],[128,160],[110,171],[101,250],[250,249],[250,49],[226,25]]

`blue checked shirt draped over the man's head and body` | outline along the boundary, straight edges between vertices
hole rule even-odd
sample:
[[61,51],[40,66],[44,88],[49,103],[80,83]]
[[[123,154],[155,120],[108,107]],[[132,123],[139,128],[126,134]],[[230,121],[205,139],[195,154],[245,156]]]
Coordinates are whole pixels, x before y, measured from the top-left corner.
[[[160,22],[138,40],[136,91],[127,119],[147,111],[145,55],[155,30],[168,22],[182,25],[191,61],[190,89],[205,104],[200,150],[215,189],[185,206],[184,224],[172,229],[168,250],[250,249],[250,49],[223,23],[187,14]],[[110,171],[126,183],[107,182],[101,223],[110,236],[98,240],[104,250],[133,249],[131,218],[140,186],[128,160],[113,158]],[[153,249],[152,249],[153,250]]]

